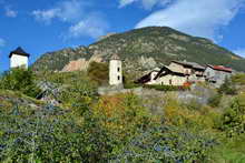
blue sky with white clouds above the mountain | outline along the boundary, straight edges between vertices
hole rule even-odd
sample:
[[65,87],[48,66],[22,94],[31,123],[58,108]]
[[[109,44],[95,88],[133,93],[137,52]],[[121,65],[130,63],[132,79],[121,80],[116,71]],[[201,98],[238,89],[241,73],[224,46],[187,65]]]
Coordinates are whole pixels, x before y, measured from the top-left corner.
[[0,0],[0,71],[22,47],[41,54],[110,32],[167,26],[245,57],[245,0]]

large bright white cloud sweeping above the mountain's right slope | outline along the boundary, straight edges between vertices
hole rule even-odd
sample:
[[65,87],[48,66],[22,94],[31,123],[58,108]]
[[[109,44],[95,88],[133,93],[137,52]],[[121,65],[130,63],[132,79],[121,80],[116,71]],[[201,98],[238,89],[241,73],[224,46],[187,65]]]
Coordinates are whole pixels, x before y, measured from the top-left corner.
[[167,26],[215,40],[229,24],[245,0],[177,0],[141,20],[136,28]]

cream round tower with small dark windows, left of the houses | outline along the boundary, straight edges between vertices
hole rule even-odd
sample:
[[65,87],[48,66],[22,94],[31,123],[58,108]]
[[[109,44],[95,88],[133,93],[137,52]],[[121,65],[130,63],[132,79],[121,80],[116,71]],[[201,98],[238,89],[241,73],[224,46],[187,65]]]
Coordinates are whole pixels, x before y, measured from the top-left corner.
[[114,54],[110,59],[109,84],[110,85],[121,85],[122,84],[121,60],[117,54]]

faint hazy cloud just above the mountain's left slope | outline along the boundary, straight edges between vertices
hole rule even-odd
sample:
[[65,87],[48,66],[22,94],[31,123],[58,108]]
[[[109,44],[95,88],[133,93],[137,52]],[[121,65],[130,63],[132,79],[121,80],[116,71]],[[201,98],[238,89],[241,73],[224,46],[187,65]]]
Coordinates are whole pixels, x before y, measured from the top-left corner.
[[108,29],[108,23],[101,18],[99,13],[91,13],[89,17],[69,28],[69,37],[91,37],[96,39],[105,35]]

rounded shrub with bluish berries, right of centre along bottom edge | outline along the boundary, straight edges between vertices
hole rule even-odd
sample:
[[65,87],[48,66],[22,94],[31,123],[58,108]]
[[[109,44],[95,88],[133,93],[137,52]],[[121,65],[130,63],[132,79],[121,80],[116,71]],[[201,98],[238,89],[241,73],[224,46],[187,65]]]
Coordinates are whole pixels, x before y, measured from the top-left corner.
[[205,162],[215,141],[200,132],[155,126],[130,140],[117,162]]

